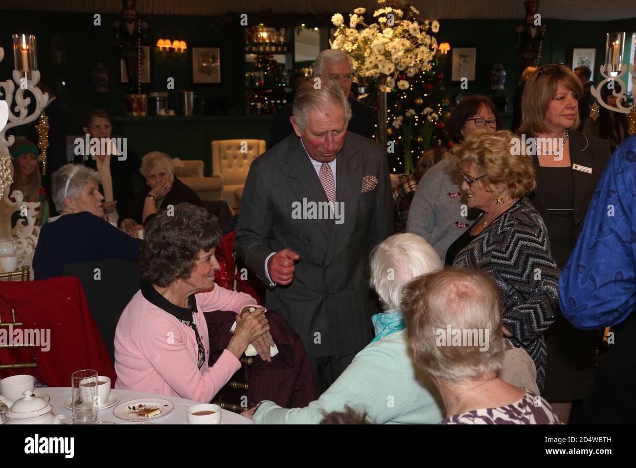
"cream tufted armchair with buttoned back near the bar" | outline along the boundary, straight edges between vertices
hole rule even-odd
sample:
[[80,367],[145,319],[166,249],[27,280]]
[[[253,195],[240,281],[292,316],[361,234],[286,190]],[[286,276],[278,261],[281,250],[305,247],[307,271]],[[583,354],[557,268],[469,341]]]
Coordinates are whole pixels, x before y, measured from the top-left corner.
[[212,140],[212,176],[223,180],[222,198],[230,208],[240,208],[249,166],[265,150],[264,139]]

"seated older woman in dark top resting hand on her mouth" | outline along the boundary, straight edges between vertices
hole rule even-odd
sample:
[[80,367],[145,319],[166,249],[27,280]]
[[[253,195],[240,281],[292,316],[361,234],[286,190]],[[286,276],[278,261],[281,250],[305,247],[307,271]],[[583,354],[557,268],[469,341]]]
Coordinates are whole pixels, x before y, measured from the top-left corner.
[[174,162],[166,153],[153,151],[141,159],[141,175],[146,179],[142,188],[121,213],[120,227],[136,238],[160,209],[187,202],[203,206],[196,192],[174,176]]

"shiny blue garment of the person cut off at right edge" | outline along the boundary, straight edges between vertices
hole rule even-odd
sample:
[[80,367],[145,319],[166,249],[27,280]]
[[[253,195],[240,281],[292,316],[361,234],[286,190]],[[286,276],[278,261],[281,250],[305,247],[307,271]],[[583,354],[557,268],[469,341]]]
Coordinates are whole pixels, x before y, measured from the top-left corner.
[[616,148],[559,280],[563,316],[578,329],[611,327],[636,307],[636,135]]

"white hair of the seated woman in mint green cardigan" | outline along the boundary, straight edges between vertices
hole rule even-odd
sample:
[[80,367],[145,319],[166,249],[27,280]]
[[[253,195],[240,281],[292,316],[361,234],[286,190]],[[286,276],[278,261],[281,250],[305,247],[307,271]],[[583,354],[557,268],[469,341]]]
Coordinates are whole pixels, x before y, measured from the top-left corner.
[[385,310],[400,310],[402,288],[422,274],[443,268],[427,241],[405,232],[394,234],[371,252],[371,286],[382,297]]

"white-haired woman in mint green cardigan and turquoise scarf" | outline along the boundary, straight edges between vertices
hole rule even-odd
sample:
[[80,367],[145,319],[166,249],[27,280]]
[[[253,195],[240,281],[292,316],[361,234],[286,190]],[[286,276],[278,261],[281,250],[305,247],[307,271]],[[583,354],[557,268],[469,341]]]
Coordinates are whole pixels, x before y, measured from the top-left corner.
[[385,312],[371,317],[375,338],[307,407],[285,409],[265,401],[243,415],[256,424],[318,424],[326,413],[354,404],[376,423],[438,423],[441,399],[431,379],[413,365],[399,300],[404,284],[439,269],[437,253],[415,234],[395,234],[377,245],[371,253],[371,285]]

